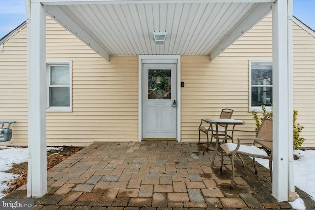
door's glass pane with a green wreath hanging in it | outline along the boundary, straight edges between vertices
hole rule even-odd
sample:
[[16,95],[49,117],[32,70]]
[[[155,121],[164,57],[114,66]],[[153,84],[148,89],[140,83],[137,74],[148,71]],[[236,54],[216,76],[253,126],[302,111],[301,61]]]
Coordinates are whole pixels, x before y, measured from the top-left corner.
[[148,99],[171,99],[171,70],[149,69]]

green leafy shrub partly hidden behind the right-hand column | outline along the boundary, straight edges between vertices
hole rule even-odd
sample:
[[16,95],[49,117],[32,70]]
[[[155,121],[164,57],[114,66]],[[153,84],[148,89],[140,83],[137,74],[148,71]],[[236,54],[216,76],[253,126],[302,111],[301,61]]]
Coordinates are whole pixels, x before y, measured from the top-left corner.
[[[253,119],[256,122],[255,130],[257,131],[259,130],[260,125],[262,121],[264,120],[265,116],[266,115],[272,116],[272,110],[270,113],[267,113],[265,105],[261,105],[261,108],[262,108],[262,117],[259,117],[258,113],[255,110],[252,111]],[[271,105],[271,108],[272,108],[272,105]],[[296,122],[297,115],[298,115],[297,110],[293,110],[293,150],[298,150],[299,147],[301,147],[301,145],[305,141],[305,138],[300,136],[301,131],[304,129],[304,127]]]

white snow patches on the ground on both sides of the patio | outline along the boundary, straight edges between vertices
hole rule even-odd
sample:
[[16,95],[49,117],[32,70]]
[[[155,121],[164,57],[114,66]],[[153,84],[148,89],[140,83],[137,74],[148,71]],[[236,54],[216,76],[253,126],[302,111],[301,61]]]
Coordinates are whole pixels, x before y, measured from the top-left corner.
[[[5,149],[0,150],[0,198],[2,198],[5,194],[1,192],[9,187],[5,181],[10,182],[17,176],[4,171],[9,170],[13,164],[27,162],[28,148],[0,146],[0,149]],[[62,147],[47,147],[47,150],[61,149]],[[315,201],[315,150],[295,150],[294,154],[299,157],[298,160],[294,160],[295,186],[312,196],[312,199]],[[259,158],[256,158],[256,160],[261,165],[269,168],[269,160]],[[290,204],[297,210],[306,209],[301,198],[290,202]]]

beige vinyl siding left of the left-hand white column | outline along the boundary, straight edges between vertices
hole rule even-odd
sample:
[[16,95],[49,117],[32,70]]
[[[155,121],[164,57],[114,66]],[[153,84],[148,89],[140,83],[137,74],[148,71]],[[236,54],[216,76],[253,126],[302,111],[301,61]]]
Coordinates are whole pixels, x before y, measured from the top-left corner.
[[[26,57],[24,26],[3,43],[3,51],[0,52],[0,121],[17,122],[11,125],[13,145],[27,144]],[[1,145],[12,144],[1,142]]]

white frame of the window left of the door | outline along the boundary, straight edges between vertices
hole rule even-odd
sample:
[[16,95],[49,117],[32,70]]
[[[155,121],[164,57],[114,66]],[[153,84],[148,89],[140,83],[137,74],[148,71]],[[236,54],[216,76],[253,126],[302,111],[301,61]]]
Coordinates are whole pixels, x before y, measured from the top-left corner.
[[[50,66],[68,65],[69,66],[69,91],[70,91],[70,105],[61,107],[49,106],[49,86],[50,86]],[[72,112],[72,62],[71,61],[50,61],[46,62],[47,67],[47,109],[46,111],[66,111]]]

